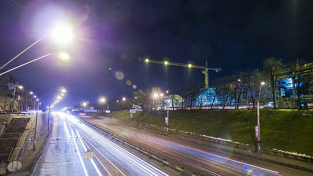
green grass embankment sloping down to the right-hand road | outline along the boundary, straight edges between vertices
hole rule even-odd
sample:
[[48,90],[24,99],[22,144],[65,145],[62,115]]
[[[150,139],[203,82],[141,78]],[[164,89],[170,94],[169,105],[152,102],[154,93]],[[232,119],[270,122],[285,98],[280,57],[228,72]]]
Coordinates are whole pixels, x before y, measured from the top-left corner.
[[[129,111],[110,117],[130,120]],[[166,110],[136,111],[134,121],[166,127]],[[262,148],[313,156],[313,111],[260,110]],[[256,146],[256,110],[170,110],[171,129],[231,139]]]

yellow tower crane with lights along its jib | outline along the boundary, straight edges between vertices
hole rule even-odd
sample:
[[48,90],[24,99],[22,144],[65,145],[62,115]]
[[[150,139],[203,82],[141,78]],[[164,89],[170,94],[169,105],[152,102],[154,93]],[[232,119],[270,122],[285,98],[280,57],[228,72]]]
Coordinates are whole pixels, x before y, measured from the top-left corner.
[[174,62],[168,62],[168,61],[157,61],[157,60],[151,60],[151,59],[142,59],[139,58],[140,62],[146,62],[146,63],[155,63],[155,64],[163,64],[163,65],[169,65],[169,66],[183,66],[183,67],[189,67],[189,68],[200,68],[203,69],[201,72],[204,73],[204,87],[209,88],[209,70],[215,70],[216,72],[219,72],[222,70],[221,67],[219,68],[209,68],[207,65],[207,61],[205,61],[205,66],[197,66],[192,64],[182,64],[182,63],[174,63]]

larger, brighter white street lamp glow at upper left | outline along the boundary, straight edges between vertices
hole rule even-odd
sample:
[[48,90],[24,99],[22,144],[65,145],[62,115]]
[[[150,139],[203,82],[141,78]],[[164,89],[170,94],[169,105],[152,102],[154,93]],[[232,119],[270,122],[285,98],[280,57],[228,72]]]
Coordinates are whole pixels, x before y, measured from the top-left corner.
[[71,28],[65,24],[58,24],[51,32],[51,37],[58,43],[69,43],[74,38],[74,34]]

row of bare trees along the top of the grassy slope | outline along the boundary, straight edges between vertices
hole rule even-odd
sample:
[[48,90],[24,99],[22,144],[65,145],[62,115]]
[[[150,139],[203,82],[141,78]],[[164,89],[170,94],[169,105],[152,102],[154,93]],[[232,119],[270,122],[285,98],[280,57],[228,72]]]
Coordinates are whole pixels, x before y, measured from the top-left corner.
[[[213,87],[208,89],[202,85],[191,82],[181,82],[171,88],[161,90],[159,87],[148,88],[145,91],[133,92],[129,104],[142,105],[144,109],[165,109],[167,106],[174,109],[192,108],[197,105],[201,109],[204,105],[211,109],[219,104],[224,109],[226,105],[233,104],[239,109],[240,104],[251,104],[256,108],[260,103],[272,102],[272,108],[277,108],[277,88],[281,83],[280,78],[290,77],[294,87],[293,98],[297,100],[297,106],[302,109],[301,96],[307,91],[312,91],[312,75],[306,74],[310,69],[303,59],[297,59],[294,63],[284,64],[282,59],[267,58],[263,61],[262,70],[236,71],[235,74],[217,78]],[[310,71],[310,70],[309,70]],[[264,85],[261,83],[264,82]],[[310,83],[306,90],[301,83]],[[261,89],[262,86],[262,89]]]

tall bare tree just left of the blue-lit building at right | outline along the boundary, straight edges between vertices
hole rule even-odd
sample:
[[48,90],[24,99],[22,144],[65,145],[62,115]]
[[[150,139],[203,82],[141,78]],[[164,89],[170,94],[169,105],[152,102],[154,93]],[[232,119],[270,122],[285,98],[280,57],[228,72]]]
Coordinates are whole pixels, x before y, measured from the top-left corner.
[[267,58],[263,62],[266,78],[271,86],[273,96],[273,106],[276,109],[276,85],[277,73],[283,68],[282,59]]

